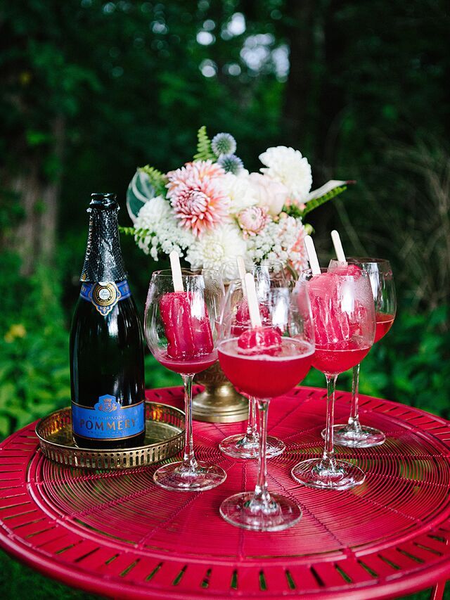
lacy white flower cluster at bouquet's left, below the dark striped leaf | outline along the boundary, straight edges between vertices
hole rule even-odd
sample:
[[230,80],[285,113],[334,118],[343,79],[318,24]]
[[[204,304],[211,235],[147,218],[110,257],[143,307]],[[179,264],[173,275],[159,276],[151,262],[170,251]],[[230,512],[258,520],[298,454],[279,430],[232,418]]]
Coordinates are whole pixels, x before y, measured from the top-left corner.
[[183,250],[193,243],[191,231],[179,225],[167,200],[157,196],[148,200],[136,218],[135,229],[148,231],[144,236],[136,234],[135,239],[144,253],[158,260],[158,253],[169,254],[176,250],[182,256]]

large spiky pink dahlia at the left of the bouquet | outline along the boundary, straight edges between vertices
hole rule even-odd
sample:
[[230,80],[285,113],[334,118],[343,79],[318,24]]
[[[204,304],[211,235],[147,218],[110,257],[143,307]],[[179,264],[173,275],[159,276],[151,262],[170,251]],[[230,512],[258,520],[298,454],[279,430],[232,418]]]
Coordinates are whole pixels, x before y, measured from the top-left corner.
[[226,216],[228,198],[220,185],[224,174],[211,160],[186,162],[181,169],[167,173],[167,198],[175,216],[195,236],[213,229]]

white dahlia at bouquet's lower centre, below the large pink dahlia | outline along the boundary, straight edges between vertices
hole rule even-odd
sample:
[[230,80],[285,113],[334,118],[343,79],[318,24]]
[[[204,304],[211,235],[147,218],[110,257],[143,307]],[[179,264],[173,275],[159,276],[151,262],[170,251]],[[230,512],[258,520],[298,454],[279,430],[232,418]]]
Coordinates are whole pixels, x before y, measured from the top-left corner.
[[233,275],[224,272],[224,265],[226,267],[229,264],[234,272],[236,257],[245,257],[246,250],[247,246],[238,226],[225,223],[195,239],[188,248],[186,260],[191,263],[193,270],[217,269],[222,272],[224,279],[229,279]]

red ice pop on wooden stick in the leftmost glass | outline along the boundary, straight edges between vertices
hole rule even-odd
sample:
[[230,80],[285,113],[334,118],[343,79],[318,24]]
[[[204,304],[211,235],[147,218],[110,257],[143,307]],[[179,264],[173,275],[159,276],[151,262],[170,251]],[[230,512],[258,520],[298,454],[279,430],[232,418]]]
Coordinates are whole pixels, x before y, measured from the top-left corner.
[[167,338],[167,355],[172,359],[187,360],[212,352],[214,343],[203,295],[183,290],[179,257],[172,257],[172,254],[174,291],[162,296],[160,314]]

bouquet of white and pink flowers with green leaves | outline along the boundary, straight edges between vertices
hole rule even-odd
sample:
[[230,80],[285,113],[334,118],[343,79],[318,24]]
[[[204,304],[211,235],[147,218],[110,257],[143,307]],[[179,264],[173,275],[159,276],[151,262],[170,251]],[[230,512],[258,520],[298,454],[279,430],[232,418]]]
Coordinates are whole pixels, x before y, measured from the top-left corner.
[[259,160],[260,172],[248,172],[233,136],[210,140],[200,127],[191,162],[167,173],[149,165],[136,171],[127,191],[134,227],[122,231],[154,260],[176,250],[193,271],[219,269],[225,280],[236,276],[238,256],[248,264],[281,260],[299,272],[307,267],[303,240],[311,230],[304,217],[349,181],[311,191],[311,166],[294,148],[268,148]]

